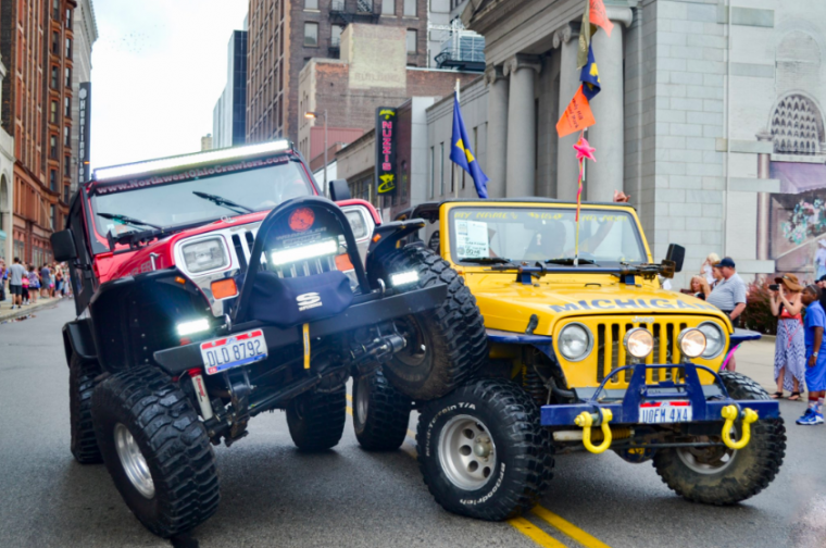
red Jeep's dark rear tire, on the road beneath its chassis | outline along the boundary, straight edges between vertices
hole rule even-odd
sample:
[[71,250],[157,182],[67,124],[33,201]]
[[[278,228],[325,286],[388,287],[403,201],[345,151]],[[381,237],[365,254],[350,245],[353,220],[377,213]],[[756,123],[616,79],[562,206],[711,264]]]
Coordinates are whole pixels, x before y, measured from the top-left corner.
[[347,387],[308,391],[287,406],[287,426],[296,447],[323,451],[336,447],[347,422]]

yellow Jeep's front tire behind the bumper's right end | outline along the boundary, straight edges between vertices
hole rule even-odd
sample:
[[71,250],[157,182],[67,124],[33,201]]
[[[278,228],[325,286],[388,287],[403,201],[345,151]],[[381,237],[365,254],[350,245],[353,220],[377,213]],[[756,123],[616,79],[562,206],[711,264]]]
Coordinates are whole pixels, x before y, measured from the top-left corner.
[[[768,394],[739,373],[719,374],[728,395],[738,400],[767,400]],[[740,436],[739,422],[737,438]],[[717,440],[719,436],[715,436]],[[660,449],[654,468],[675,493],[693,502],[735,505],[765,489],[777,475],[786,452],[783,419],[751,425],[751,441],[742,449]]]

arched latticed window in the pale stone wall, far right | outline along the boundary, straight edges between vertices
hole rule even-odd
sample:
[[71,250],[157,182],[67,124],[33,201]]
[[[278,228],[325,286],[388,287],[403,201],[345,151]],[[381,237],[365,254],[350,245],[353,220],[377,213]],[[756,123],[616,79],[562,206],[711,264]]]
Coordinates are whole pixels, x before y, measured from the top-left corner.
[[819,109],[805,96],[786,96],[772,115],[772,137],[775,153],[819,154],[826,140]]

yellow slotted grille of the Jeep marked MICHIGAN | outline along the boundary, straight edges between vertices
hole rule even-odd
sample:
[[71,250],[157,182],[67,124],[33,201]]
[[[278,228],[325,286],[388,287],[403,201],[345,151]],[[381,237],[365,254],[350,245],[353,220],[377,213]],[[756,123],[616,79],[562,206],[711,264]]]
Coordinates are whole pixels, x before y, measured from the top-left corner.
[[[597,326],[597,381],[602,382],[612,371],[631,365],[634,357],[628,354],[623,345],[625,334],[635,327],[644,327],[654,336],[654,350],[646,358],[646,363],[680,363],[681,356],[677,348],[679,332],[688,326],[680,322],[655,322],[653,324],[634,324],[630,322],[606,322]],[[631,378],[633,371],[626,370],[614,375],[606,386],[612,387],[626,384]],[[666,379],[677,379],[680,375],[679,368],[649,370],[647,382],[655,383]]]

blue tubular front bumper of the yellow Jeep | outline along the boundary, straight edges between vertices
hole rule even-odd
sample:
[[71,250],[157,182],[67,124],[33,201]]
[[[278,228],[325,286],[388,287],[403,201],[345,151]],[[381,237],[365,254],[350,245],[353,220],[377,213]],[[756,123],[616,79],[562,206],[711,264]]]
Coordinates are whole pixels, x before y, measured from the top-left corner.
[[[681,368],[685,371],[685,382],[675,383],[673,381],[662,381],[654,384],[646,383],[646,372],[649,369],[674,369]],[[622,398],[606,397],[605,384],[618,373],[633,370],[634,374],[628,383],[628,388]],[[712,395],[703,389],[700,383],[698,370],[714,375],[716,381],[716,390]],[[679,365],[647,365],[638,363],[636,365],[626,365],[618,368],[606,376],[600,387],[587,400],[579,403],[542,406],[541,424],[542,426],[573,426],[574,419],[587,411],[589,413],[599,413],[600,409],[610,409],[614,418],[612,425],[618,424],[638,424],[640,422],[639,407],[643,402],[666,401],[666,400],[688,400],[691,402],[692,420],[691,422],[711,422],[723,421],[721,412],[724,407],[735,404],[740,410],[750,408],[758,413],[761,420],[778,419],[780,416],[779,404],[775,400],[734,400],[728,396],[728,391],[723,384],[719,375],[713,370],[703,365],[693,363],[683,363]]]

